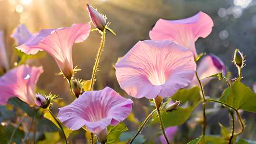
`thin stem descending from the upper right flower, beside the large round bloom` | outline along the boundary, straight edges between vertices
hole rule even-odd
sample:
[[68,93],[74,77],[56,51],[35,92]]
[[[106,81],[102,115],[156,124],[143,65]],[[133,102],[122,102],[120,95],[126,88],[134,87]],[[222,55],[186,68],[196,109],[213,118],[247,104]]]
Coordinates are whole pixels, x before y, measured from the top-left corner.
[[202,108],[203,108],[202,134],[205,135],[205,128],[206,128],[205,94],[204,94],[204,90],[203,90],[203,86],[202,86],[201,80],[198,77],[197,71],[195,72],[195,74],[196,74],[196,78],[197,78],[197,81],[198,81],[198,83],[200,85],[201,92],[202,92],[202,99],[203,99],[203,101],[202,101]]

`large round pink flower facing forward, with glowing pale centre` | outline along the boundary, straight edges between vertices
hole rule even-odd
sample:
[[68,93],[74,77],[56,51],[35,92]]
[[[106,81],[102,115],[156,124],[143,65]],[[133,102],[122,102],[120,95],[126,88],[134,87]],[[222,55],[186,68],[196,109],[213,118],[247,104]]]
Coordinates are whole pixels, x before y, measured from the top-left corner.
[[171,97],[193,79],[193,53],[169,40],[139,41],[115,65],[120,87],[135,98]]

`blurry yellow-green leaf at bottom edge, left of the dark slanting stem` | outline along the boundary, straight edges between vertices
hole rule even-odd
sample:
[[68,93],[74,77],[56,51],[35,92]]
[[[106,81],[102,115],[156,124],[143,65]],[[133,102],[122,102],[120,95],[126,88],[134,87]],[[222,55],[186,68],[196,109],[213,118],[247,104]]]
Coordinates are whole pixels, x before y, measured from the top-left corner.
[[60,140],[58,132],[46,132],[45,136],[45,140],[38,141],[37,144],[56,144]]

